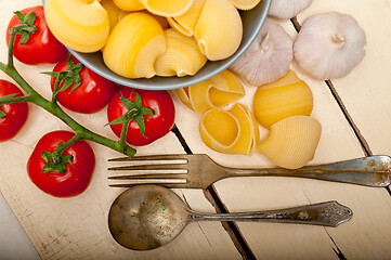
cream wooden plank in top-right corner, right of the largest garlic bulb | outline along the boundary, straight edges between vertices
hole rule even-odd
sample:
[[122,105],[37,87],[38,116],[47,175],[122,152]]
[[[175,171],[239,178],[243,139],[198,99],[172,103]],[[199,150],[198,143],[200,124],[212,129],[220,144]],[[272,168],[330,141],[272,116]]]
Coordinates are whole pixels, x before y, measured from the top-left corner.
[[347,77],[331,81],[375,154],[391,154],[390,5],[390,0],[314,1],[298,16],[301,23],[313,13],[334,10],[352,15],[365,30],[367,48],[363,62]]

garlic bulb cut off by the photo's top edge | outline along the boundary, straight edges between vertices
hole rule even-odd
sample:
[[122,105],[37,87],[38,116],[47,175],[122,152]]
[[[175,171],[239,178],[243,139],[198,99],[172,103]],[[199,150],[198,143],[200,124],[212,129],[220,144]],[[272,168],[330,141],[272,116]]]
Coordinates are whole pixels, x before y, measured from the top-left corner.
[[269,15],[276,18],[291,18],[310,6],[312,0],[272,0]]

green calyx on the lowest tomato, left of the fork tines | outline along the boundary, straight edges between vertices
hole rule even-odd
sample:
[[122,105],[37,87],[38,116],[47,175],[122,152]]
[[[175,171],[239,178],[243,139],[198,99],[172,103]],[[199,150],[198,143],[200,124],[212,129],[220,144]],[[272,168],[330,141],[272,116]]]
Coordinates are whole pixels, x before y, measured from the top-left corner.
[[58,173],[65,173],[66,172],[66,164],[73,165],[74,157],[71,155],[66,155],[63,153],[56,153],[58,150],[63,150],[64,144],[58,143],[54,152],[48,152],[43,151],[41,153],[42,159],[47,162],[42,171],[44,173],[56,171]]

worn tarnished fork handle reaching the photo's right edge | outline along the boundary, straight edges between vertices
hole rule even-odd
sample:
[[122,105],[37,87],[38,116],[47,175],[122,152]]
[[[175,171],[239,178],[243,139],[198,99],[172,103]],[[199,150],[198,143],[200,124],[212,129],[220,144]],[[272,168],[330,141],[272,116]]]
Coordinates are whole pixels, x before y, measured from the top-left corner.
[[386,155],[368,156],[334,164],[308,166],[300,169],[263,168],[238,169],[225,168],[229,177],[299,177],[366,186],[388,186],[391,179],[391,158]]

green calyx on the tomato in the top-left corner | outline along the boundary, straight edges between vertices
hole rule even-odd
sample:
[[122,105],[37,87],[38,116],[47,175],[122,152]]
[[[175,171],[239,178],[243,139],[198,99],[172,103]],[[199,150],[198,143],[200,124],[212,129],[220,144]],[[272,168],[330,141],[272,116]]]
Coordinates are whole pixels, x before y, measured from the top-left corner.
[[36,22],[36,13],[29,12],[24,15],[22,12],[16,11],[14,14],[17,16],[19,21],[19,25],[13,27],[9,34],[12,34],[12,30],[15,30],[16,35],[21,35],[21,44],[26,44],[26,42],[30,39],[31,35],[37,32],[37,27],[34,25]]

